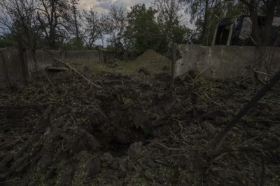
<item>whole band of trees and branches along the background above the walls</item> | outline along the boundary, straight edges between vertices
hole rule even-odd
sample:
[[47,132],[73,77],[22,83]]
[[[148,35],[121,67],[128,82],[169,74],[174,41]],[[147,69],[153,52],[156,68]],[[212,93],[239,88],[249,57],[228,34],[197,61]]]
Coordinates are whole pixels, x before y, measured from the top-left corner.
[[[33,52],[45,47],[94,49],[97,40],[102,45],[106,40],[118,51],[155,49],[162,54],[169,52],[172,42],[210,45],[216,22],[235,15],[251,15],[253,40],[267,45],[273,17],[280,10],[279,1],[271,0],[155,0],[151,7],[136,4],[130,10],[113,4],[106,15],[94,6],[79,10],[76,0],[3,0],[0,6],[1,47],[9,46],[20,33]],[[186,13],[195,29],[188,28]],[[267,16],[265,23],[258,15]],[[265,25],[263,30],[259,24]]]

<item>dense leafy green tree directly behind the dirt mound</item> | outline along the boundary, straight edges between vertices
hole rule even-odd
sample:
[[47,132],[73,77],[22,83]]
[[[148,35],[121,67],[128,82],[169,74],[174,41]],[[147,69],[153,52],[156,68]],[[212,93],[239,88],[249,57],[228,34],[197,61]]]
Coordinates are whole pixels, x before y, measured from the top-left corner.
[[145,4],[140,3],[131,9],[127,15],[127,46],[136,52],[146,49],[166,52],[167,36],[162,30],[163,25],[155,21],[155,10],[151,7],[147,9]]

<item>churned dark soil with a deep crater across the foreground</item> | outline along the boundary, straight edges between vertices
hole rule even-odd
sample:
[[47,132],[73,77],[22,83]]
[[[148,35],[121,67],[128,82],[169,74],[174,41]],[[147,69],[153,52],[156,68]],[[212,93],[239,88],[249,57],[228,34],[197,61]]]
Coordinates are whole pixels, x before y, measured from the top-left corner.
[[[207,178],[188,160],[261,87],[255,79],[194,79],[91,72],[38,76],[0,94],[0,185],[259,185],[259,153],[228,153]],[[279,140],[280,88],[259,102],[221,146]],[[266,184],[279,185],[280,150],[265,153]],[[199,164],[200,162],[197,162]]]

